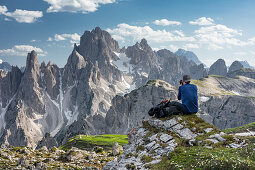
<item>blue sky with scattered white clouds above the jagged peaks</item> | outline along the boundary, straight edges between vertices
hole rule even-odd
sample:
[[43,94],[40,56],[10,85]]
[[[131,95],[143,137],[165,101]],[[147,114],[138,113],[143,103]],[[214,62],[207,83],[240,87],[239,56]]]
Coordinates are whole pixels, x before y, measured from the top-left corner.
[[195,52],[210,66],[247,60],[255,66],[254,0],[1,0],[0,59],[24,66],[35,49],[40,62],[63,67],[73,43],[100,26],[128,46],[146,38],[154,50]]

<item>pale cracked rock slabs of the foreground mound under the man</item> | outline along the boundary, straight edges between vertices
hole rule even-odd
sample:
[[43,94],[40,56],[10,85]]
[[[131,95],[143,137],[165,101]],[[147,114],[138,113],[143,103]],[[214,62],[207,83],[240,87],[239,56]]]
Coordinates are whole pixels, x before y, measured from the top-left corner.
[[[195,115],[174,116],[164,120],[151,118],[143,121],[141,126],[128,135],[128,144],[123,147],[123,154],[117,161],[108,162],[103,170],[149,169],[151,165],[160,163],[163,155],[185,149],[184,146],[190,149],[192,146],[238,148],[247,145],[245,140],[236,137],[228,140],[225,133]],[[225,142],[227,140],[230,144]]]

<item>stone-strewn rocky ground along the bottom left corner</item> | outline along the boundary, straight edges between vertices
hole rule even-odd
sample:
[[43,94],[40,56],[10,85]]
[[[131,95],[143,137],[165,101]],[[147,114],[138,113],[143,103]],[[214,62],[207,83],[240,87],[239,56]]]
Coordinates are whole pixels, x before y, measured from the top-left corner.
[[[118,146],[114,154],[118,155]],[[0,150],[0,169],[101,169],[106,162],[117,159],[102,148],[95,151],[72,147],[68,151],[56,147],[33,150],[28,147],[11,147]]]

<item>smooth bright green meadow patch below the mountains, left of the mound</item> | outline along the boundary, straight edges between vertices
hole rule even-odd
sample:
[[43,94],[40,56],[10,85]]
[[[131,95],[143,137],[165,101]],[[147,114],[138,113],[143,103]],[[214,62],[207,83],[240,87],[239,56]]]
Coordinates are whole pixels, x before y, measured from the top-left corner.
[[79,149],[92,149],[95,146],[104,148],[105,150],[110,150],[115,142],[120,145],[125,145],[128,143],[127,135],[77,135],[70,138],[66,144],[59,147],[59,149],[67,150],[71,147],[77,147]]

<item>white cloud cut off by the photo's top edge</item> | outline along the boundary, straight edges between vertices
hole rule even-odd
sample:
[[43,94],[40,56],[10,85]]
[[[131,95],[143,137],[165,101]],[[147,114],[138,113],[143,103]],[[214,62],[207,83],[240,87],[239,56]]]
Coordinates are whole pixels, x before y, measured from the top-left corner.
[[116,0],[44,0],[50,4],[47,12],[95,12],[102,4],[111,4]]

